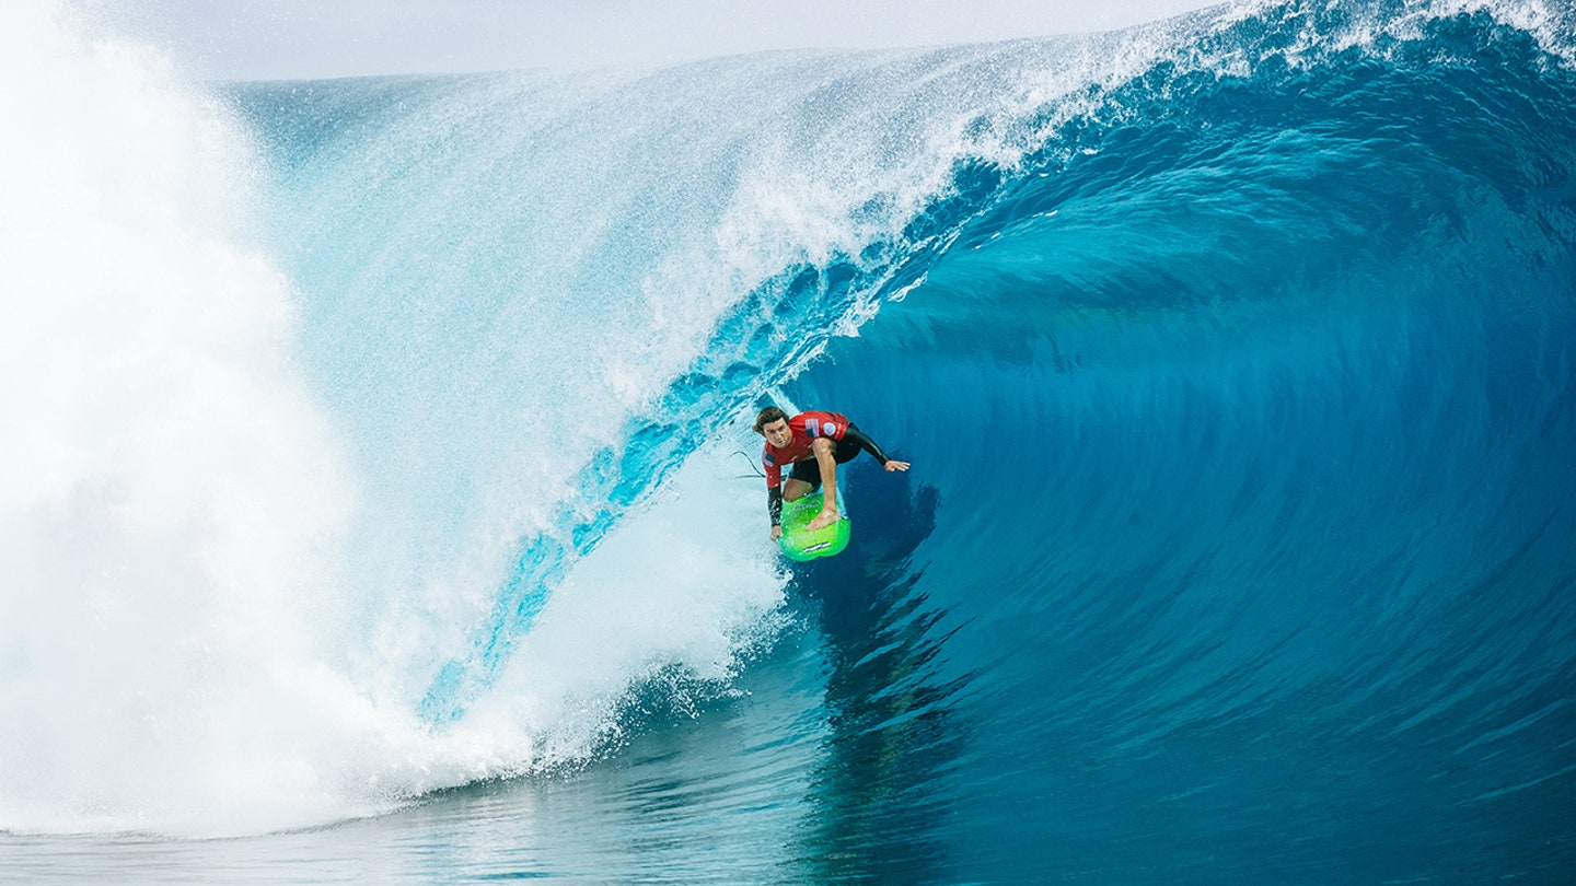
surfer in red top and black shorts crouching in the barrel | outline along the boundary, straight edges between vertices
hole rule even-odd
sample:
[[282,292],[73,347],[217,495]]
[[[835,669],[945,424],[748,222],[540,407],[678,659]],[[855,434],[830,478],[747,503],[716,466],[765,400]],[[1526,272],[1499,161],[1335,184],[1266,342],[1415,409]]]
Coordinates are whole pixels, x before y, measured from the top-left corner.
[[[766,438],[761,465],[766,468],[766,509],[772,516],[772,538],[783,534],[783,501],[797,501],[816,490],[831,490],[821,498],[821,512],[810,520],[810,530],[831,527],[842,517],[837,511],[837,465],[849,462],[860,449],[875,456],[889,471],[906,471],[908,462],[889,459],[876,441],[865,437],[848,416],[835,411],[802,411],[793,418],[777,407],[766,407],[755,416],[755,432]],[[793,465],[783,482],[783,465]]]

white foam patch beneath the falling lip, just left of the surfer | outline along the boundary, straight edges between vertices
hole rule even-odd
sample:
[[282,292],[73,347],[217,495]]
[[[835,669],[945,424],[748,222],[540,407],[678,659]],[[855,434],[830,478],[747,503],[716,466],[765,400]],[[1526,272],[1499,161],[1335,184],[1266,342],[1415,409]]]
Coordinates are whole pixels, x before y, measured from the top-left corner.
[[692,457],[574,568],[446,741],[493,774],[522,771],[616,738],[627,692],[663,672],[725,691],[741,654],[769,642],[785,582],[764,490],[734,476],[728,449]]

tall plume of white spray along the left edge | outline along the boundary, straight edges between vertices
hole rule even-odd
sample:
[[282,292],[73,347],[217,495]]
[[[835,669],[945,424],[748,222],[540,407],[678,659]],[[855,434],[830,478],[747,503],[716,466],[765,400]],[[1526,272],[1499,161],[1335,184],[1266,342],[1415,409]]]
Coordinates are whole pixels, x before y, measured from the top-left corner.
[[76,33],[0,27],[0,828],[342,810],[353,493],[244,246],[252,154],[156,54]]

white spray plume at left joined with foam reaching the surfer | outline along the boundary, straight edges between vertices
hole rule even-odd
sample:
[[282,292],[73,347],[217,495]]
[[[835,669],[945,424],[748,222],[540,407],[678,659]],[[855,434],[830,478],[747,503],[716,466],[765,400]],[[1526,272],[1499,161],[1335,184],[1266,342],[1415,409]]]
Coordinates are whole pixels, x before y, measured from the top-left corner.
[[77,35],[55,5],[0,27],[0,831],[362,815],[586,754],[652,667],[727,676],[780,580],[700,545],[764,547],[686,511],[745,506],[701,468],[572,575],[507,692],[429,733],[378,670],[416,653],[361,623],[344,539],[370,517],[254,246],[246,134],[158,54]]

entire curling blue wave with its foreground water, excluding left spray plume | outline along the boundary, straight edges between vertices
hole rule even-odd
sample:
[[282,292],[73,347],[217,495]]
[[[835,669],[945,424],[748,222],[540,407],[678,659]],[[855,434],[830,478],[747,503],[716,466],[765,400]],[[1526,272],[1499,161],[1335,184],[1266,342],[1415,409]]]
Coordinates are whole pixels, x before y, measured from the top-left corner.
[[[192,880],[1570,881],[1573,36],[1540,6],[1281,3],[230,87],[301,359],[410,527],[380,530],[394,564],[358,536],[374,627],[337,656],[430,747],[353,768],[408,804],[383,817],[0,851],[61,881],[165,856]],[[731,476],[772,399],[914,465],[845,470],[834,560],[772,561],[760,481]],[[643,627],[575,621],[597,582]]]

